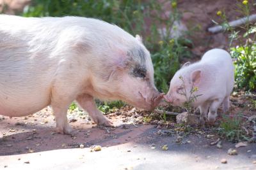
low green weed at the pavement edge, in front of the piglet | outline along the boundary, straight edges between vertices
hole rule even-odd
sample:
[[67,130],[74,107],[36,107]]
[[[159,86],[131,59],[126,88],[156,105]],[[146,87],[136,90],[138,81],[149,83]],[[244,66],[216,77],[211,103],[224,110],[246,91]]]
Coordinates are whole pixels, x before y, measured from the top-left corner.
[[227,115],[223,115],[223,119],[220,122],[220,128],[218,129],[218,133],[222,138],[228,139],[232,142],[237,142],[241,140],[249,141],[244,131],[243,127],[243,120],[241,115],[236,117],[231,117]]

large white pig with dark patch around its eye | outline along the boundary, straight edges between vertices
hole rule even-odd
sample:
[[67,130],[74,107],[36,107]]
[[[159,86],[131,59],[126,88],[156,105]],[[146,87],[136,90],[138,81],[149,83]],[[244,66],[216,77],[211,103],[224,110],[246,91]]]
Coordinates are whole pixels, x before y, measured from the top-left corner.
[[140,36],[83,17],[0,15],[0,114],[21,117],[51,105],[60,132],[70,134],[72,101],[97,124],[111,122],[94,97],[120,99],[152,110],[162,94],[154,86],[150,53]]

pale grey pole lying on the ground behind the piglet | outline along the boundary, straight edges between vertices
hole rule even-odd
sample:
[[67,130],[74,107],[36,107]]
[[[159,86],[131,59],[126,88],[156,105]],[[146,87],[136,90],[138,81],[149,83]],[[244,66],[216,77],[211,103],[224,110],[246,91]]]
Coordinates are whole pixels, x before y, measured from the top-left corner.
[[[256,14],[250,15],[248,17],[248,22],[254,22],[254,21],[256,21]],[[230,25],[230,27],[238,27],[239,25],[243,25],[246,22],[247,22],[247,17],[243,17],[238,20],[233,20],[231,22],[228,22],[228,24]],[[220,25],[208,28],[208,31],[212,33],[220,32],[222,30],[223,30],[223,27]]]

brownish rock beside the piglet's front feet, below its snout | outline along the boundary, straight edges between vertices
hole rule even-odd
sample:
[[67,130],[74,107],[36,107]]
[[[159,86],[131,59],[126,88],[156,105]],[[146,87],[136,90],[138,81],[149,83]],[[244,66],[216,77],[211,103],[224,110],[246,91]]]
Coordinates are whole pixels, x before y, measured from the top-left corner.
[[177,124],[198,125],[199,117],[188,112],[183,112],[176,116],[176,122]]

